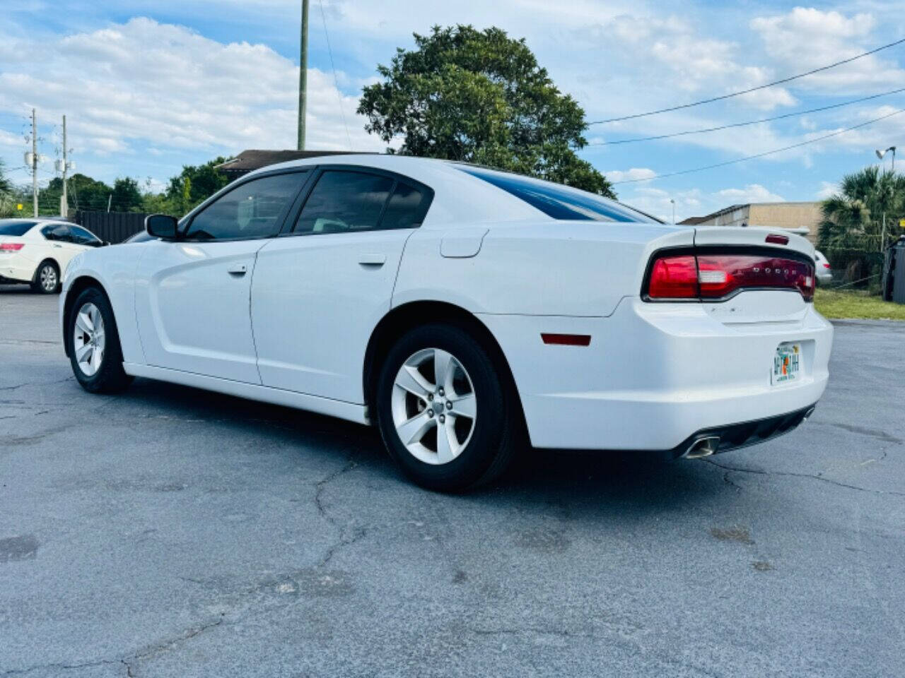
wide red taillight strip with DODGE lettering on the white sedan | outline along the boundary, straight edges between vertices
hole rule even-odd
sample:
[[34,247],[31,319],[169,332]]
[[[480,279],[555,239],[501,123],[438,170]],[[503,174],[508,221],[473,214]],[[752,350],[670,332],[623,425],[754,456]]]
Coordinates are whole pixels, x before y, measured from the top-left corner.
[[647,285],[651,299],[722,299],[742,289],[797,289],[814,298],[814,267],[759,254],[666,255],[655,259]]

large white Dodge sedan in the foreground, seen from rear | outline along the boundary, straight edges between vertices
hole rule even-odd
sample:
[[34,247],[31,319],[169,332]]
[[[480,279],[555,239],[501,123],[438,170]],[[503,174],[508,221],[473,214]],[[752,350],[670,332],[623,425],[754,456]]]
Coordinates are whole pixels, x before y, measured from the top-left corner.
[[274,165],[147,226],[66,273],[86,390],[148,377],[375,424],[431,488],[528,442],[723,452],[795,428],[826,386],[833,329],[794,234],[395,155]]

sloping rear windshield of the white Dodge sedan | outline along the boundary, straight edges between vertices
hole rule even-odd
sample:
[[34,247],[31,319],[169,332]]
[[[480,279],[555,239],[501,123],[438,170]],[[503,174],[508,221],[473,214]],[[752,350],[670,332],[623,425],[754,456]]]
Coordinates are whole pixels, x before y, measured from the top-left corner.
[[515,195],[553,219],[660,223],[649,214],[638,212],[622,202],[577,188],[469,165],[459,165],[459,169]]

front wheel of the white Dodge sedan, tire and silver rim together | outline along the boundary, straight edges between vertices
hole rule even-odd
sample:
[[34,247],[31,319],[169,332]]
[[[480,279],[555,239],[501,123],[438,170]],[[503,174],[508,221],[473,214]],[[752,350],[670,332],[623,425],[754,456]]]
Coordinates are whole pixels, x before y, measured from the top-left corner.
[[107,296],[97,287],[81,292],[66,322],[66,349],[72,373],[91,393],[116,393],[132,382],[122,367],[116,319]]

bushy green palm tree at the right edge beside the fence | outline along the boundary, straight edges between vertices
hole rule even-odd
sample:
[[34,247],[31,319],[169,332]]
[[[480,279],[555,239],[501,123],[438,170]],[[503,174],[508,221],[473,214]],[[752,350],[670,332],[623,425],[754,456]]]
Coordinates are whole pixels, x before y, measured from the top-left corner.
[[834,268],[845,268],[847,278],[875,274],[882,250],[900,233],[899,220],[905,217],[905,176],[877,166],[846,174],[839,192],[824,200],[821,209],[817,248]]

